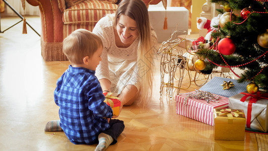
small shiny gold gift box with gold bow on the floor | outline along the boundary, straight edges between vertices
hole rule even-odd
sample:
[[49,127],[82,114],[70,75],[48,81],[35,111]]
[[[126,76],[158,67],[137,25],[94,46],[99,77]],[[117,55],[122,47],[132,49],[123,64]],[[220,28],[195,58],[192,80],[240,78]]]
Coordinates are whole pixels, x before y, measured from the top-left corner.
[[244,140],[246,118],[243,110],[214,109],[215,140]]

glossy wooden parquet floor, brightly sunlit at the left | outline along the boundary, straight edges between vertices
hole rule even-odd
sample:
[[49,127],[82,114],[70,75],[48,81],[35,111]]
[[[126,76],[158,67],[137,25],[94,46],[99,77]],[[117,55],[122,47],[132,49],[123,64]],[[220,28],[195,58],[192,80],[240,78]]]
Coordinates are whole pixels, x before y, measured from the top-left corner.
[[[38,17],[27,21],[41,31]],[[12,22],[16,18],[2,18],[2,29]],[[0,33],[0,150],[94,150],[96,145],[72,144],[63,132],[44,132],[47,121],[59,119],[53,91],[69,62],[45,62],[40,37],[27,30],[27,35],[21,34],[18,24]],[[257,150],[254,133],[246,132],[244,141],[214,140],[213,126],[177,115],[174,100],[167,101],[165,95],[160,100],[157,63],[152,101],[145,108],[123,108],[118,119],[125,122],[125,129],[108,151]],[[181,93],[195,89],[192,84]]]

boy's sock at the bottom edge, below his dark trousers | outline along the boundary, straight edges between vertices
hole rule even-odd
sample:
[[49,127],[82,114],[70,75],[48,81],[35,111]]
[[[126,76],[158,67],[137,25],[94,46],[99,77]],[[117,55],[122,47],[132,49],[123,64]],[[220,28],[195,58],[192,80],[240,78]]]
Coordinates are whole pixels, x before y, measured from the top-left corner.
[[98,139],[99,144],[97,145],[95,151],[105,150],[114,140],[112,136],[105,133],[100,133]]

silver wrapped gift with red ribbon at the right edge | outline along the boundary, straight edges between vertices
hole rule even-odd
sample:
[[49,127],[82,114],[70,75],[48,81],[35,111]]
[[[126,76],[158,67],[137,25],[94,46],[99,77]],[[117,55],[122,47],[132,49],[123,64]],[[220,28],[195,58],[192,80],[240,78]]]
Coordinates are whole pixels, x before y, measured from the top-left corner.
[[[247,93],[247,92],[244,92]],[[252,110],[251,110],[251,119],[249,121],[249,117],[247,114],[248,112],[248,102],[250,97],[247,97],[245,102],[240,101],[244,94],[237,94],[232,97],[229,97],[229,108],[230,109],[242,109],[244,110],[247,125],[247,128],[251,128],[254,130],[259,130],[263,132],[268,131],[268,100],[267,99],[260,99],[257,100],[256,103],[252,103]],[[250,122],[250,123],[249,123]]]

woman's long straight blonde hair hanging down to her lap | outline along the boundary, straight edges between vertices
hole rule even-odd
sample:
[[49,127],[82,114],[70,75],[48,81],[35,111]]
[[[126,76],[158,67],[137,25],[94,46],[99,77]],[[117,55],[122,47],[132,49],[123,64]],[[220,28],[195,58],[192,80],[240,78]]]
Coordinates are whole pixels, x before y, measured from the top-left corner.
[[151,24],[149,20],[146,5],[141,0],[124,0],[122,1],[115,14],[114,27],[118,23],[119,17],[126,15],[133,19],[137,24],[139,33],[138,45],[138,70],[141,79],[141,88],[139,90],[141,99],[139,104],[145,105],[152,97],[153,81],[153,47],[151,40]]

